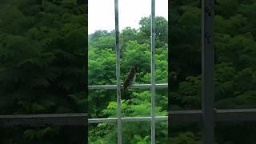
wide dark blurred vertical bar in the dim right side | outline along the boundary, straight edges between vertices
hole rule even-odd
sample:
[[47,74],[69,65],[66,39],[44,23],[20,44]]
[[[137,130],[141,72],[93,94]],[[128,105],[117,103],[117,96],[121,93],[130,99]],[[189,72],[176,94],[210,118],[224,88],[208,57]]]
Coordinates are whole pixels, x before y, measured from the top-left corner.
[[202,140],[214,143],[214,0],[202,0]]

